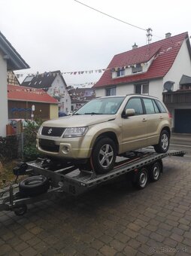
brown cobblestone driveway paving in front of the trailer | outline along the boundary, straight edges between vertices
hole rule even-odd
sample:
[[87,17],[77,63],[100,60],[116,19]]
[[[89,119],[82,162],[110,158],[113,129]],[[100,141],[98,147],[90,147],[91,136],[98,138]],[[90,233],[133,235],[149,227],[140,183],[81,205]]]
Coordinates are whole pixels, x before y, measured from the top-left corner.
[[163,163],[144,190],[115,182],[75,200],[35,203],[23,217],[0,212],[0,254],[190,255],[191,163]]

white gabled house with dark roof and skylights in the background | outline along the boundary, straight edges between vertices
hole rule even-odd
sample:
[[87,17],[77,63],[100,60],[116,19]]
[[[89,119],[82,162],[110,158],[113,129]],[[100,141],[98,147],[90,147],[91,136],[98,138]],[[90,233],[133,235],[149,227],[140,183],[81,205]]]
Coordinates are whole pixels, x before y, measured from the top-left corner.
[[71,111],[71,96],[66,89],[67,85],[59,70],[29,75],[21,85],[45,90],[50,96],[59,101],[59,111],[65,113]]

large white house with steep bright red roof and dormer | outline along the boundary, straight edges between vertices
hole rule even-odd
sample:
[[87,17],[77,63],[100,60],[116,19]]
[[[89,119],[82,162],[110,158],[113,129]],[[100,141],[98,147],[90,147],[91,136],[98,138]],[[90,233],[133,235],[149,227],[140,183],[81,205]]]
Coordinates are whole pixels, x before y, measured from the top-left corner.
[[[189,35],[187,32],[174,36],[167,33],[160,41],[142,47],[134,45],[132,50],[115,55],[102,77],[94,85],[94,89],[96,96],[141,93],[162,99],[167,90],[169,93],[183,88],[181,82],[186,81],[183,79],[185,76],[191,81]],[[175,109],[189,109],[186,111],[186,119],[191,114],[191,102],[185,103],[166,104],[173,117],[174,131],[176,131]],[[177,123],[179,120],[180,114]],[[191,131],[191,124],[189,128]]]

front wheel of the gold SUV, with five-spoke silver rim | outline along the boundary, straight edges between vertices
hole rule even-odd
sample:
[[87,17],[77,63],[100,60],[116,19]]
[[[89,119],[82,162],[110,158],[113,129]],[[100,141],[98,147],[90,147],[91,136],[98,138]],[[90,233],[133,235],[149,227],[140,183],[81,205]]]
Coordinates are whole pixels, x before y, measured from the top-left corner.
[[101,137],[92,149],[92,165],[95,172],[105,174],[114,168],[117,147],[108,137]]

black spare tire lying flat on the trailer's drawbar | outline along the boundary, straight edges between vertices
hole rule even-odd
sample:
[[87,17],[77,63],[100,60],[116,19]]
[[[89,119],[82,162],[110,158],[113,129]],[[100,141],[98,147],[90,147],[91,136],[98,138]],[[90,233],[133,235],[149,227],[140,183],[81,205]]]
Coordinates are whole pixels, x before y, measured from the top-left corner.
[[32,176],[20,181],[20,194],[25,197],[35,197],[47,192],[50,182],[44,175]]

